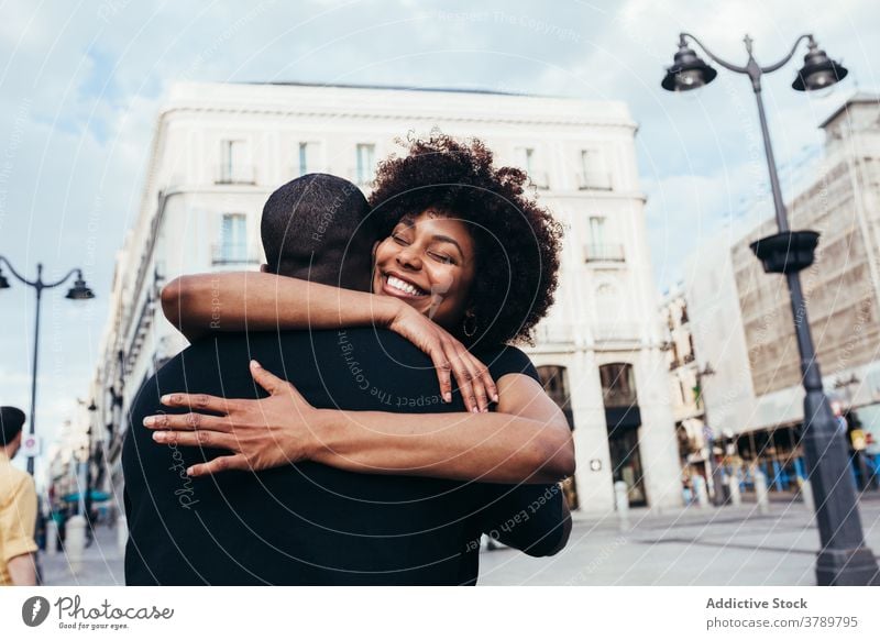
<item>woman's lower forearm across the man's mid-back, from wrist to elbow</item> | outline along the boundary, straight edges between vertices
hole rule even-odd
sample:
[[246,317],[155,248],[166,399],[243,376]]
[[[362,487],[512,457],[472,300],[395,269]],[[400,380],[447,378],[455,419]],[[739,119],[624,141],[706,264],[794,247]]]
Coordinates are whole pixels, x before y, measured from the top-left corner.
[[318,411],[312,460],[346,471],[544,484],[574,473],[568,424],[509,413]]

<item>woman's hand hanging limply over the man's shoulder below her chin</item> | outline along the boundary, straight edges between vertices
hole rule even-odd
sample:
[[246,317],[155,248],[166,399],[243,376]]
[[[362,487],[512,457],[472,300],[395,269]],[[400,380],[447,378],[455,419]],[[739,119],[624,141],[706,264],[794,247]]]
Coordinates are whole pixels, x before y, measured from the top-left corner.
[[388,329],[406,338],[430,356],[437,367],[440,393],[447,402],[452,401],[450,372],[455,375],[464,406],[469,411],[488,411],[490,402],[498,401],[498,389],[488,373],[488,367],[474,357],[446,329],[409,305],[400,305]]

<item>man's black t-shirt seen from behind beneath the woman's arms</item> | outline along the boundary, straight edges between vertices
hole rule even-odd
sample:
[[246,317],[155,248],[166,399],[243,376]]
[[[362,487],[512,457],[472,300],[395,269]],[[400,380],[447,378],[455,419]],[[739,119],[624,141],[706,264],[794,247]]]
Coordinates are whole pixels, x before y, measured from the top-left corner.
[[[512,372],[537,379],[516,349],[482,357],[495,379]],[[501,530],[547,486],[355,474],[311,462],[188,478],[187,466],[226,452],[156,444],[143,418],[169,411],[160,397],[172,391],[264,397],[251,378],[251,358],[318,408],[464,410],[458,393],[453,402],[441,401],[430,360],[387,331],[197,341],[144,383],[131,409],[122,457],[127,584],[474,584],[481,530],[497,530],[503,541],[535,554],[558,542],[559,515],[553,521],[549,508],[528,526]]]

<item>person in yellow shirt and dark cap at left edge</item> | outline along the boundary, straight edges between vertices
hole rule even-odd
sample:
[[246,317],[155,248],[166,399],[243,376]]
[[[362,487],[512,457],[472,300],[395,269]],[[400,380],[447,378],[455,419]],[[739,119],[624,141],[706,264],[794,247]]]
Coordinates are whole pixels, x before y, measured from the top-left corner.
[[36,489],[33,478],[10,462],[23,426],[21,409],[0,407],[0,586],[36,584]]

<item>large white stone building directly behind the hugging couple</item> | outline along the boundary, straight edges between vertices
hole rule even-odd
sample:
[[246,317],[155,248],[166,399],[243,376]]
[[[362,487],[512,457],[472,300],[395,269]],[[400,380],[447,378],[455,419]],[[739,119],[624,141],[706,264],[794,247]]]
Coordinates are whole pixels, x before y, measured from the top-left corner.
[[[183,84],[158,115],[136,222],[117,264],[95,386],[112,424],[156,365],[186,342],[162,316],[162,286],[186,273],[255,269],[266,197],[327,172],[365,189],[396,137],[439,128],[479,136],[498,164],[527,169],[568,227],[558,302],[529,354],[574,426],[582,510],[680,504],[663,334],[645,232],[645,196],[625,104],[477,91]],[[112,389],[112,393],[110,391]],[[113,406],[112,398],[119,398]]]

